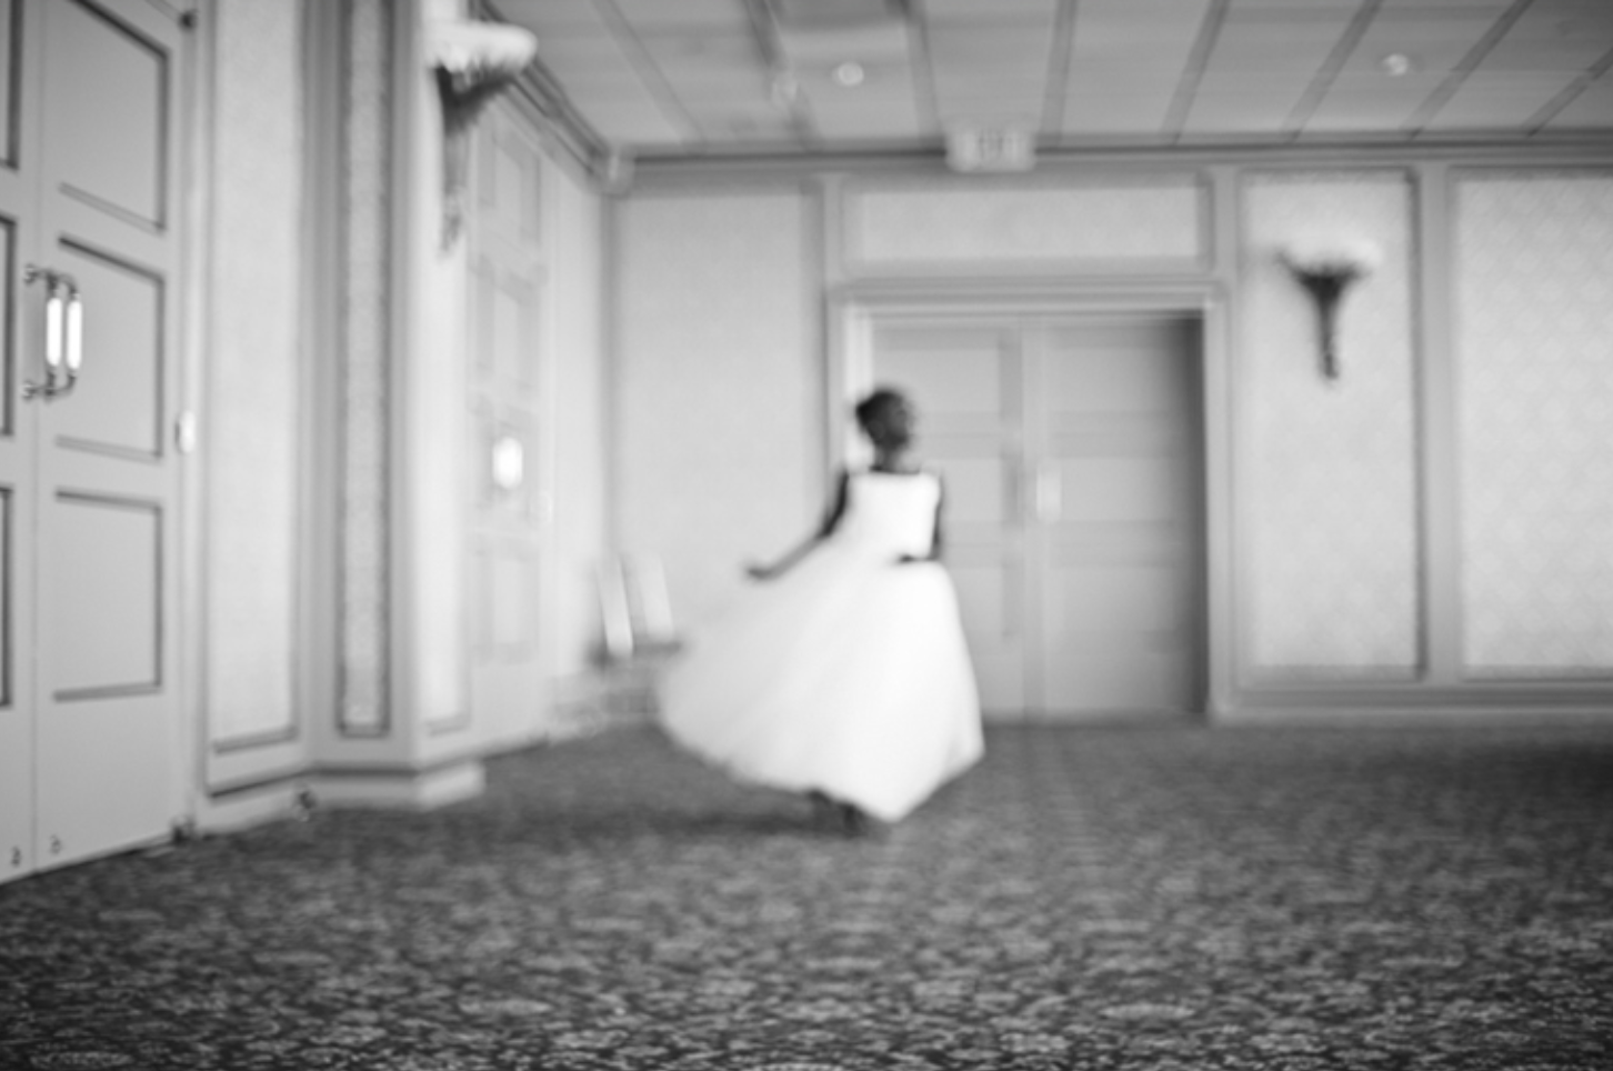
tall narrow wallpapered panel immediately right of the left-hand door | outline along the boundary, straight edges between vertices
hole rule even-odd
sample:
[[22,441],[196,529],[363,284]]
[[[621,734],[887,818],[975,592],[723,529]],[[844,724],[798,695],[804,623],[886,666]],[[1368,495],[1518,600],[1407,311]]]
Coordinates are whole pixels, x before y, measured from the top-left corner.
[[206,711],[215,747],[297,721],[302,5],[216,21]]

